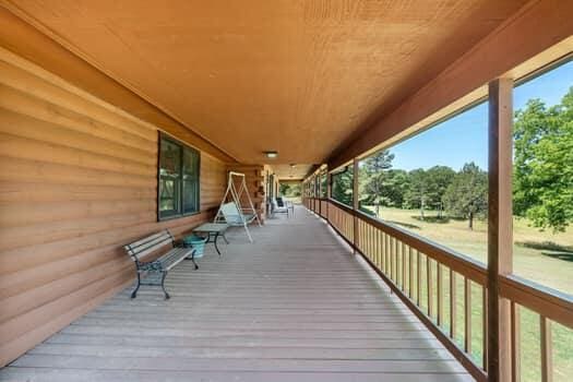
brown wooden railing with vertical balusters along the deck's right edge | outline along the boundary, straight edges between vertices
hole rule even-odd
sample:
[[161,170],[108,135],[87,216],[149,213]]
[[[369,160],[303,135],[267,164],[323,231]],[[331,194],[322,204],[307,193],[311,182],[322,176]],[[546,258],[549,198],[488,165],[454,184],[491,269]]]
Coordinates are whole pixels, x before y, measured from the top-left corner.
[[[488,380],[488,274],[484,263],[332,199],[306,198],[305,205],[363,256],[476,380]],[[540,378],[552,381],[551,325],[557,322],[573,330],[571,296],[514,275],[500,276],[500,297],[509,301],[512,313],[512,381],[521,381],[522,307],[539,317]]]

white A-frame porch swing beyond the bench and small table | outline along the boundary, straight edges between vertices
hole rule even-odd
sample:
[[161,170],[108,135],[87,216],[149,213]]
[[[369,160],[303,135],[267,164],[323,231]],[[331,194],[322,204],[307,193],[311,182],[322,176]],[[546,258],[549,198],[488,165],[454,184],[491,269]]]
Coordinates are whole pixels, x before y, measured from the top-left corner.
[[[235,186],[234,177],[241,178],[238,190],[237,190],[237,187]],[[249,202],[247,207],[242,207],[241,205],[241,198],[243,193],[247,195],[247,200]],[[230,196],[230,202],[227,202],[229,196]],[[232,206],[231,206],[231,203],[232,203]],[[259,214],[256,214],[256,211],[254,210],[253,202],[251,200],[251,196],[249,195],[249,190],[247,189],[247,180],[246,180],[244,174],[229,171],[228,180],[227,180],[227,190],[225,191],[225,195],[223,196],[223,200],[220,201],[220,205],[217,211],[217,214],[215,215],[214,222],[215,223],[227,223],[228,225],[235,226],[235,227],[240,227],[240,226],[244,227],[244,231],[247,232],[247,236],[249,237],[249,241],[253,242],[253,238],[248,227],[248,225],[252,223],[253,220],[256,220],[259,226],[261,226]]]

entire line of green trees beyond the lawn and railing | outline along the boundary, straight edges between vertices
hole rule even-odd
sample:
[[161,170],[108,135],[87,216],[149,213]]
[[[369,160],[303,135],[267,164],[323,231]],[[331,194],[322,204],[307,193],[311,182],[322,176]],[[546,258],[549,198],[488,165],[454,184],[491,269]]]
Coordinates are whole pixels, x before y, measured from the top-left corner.
[[[561,103],[547,107],[532,99],[515,112],[513,210],[541,229],[563,231],[573,222],[573,87]],[[455,171],[447,166],[410,171],[392,168],[387,150],[365,159],[359,167],[359,204],[417,208],[465,218],[473,228],[486,217],[488,174],[475,163]],[[351,205],[351,169],[333,175],[332,195]],[[369,210],[361,208],[365,212]]]

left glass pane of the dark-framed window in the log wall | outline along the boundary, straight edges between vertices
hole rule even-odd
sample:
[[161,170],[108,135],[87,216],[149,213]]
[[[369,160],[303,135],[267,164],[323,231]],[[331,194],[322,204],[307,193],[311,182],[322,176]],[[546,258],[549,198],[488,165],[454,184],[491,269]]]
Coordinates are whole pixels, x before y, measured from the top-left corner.
[[159,217],[179,213],[181,147],[162,140],[159,156]]

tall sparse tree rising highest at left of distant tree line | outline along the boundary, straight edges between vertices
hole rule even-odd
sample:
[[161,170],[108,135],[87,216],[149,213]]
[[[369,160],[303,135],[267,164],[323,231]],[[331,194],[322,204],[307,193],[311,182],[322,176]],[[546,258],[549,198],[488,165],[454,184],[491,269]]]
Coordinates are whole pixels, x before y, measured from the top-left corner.
[[365,159],[362,164],[362,176],[365,179],[362,192],[368,200],[375,205],[375,216],[380,216],[380,204],[383,201],[382,189],[386,181],[386,172],[392,167],[394,154],[387,150],[381,150],[372,156]]

